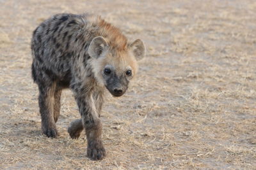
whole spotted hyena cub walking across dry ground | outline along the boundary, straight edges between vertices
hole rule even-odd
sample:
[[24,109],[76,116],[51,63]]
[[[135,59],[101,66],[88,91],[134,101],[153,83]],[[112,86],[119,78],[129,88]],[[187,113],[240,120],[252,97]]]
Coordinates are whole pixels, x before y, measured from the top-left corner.
[[42,132],[58,136],[61,90],[74,92],[81,119],[68,127],[71,138],[85,129],[87,155],[100,160],[102,145],[100,110],[106,89],[122,96],[145,56],[143,41],[128,43],[119,29],[99,16],[58,14],[40,24],[31,42],[33,80],[39,89]]

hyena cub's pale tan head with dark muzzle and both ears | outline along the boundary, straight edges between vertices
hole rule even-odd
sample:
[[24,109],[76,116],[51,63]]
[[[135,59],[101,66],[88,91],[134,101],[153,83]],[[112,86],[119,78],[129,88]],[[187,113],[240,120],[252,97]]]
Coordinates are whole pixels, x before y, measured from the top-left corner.
[[122,96],[137,72],[137,61],[145,57],[145,45],[140,39],[116,48],[102,36],[93,38],[88,48],[96,80],[115,96]]

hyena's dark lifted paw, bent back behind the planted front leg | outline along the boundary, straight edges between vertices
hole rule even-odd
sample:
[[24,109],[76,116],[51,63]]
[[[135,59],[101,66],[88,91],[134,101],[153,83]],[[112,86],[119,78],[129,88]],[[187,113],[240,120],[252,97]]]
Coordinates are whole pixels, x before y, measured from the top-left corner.
[[81,135],[83,129],[84,127],[82,119],[79,118],[71,122],[70,126],[68,127],[68,133],[72,139],[77,139]]

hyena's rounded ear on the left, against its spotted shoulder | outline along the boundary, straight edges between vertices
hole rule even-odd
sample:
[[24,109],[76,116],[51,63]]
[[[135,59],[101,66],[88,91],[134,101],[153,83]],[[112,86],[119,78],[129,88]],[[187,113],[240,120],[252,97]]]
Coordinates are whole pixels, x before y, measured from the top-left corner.
[[108,43],[102,36],[97,36],[92,39],[88,48],[88,53],[91,57],[98,59],[108,51]]

